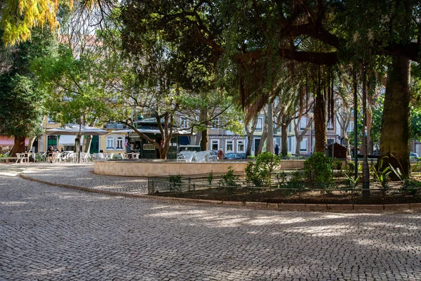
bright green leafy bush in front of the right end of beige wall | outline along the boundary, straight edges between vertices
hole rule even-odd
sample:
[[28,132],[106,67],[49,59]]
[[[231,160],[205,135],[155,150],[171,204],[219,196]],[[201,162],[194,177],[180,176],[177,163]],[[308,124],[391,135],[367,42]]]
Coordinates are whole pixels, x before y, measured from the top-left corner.
[[246,167],[246,179],[255,186],[272,186],[272,172],[281,165],[281,158],[271,152],[262,152],[256,162]]

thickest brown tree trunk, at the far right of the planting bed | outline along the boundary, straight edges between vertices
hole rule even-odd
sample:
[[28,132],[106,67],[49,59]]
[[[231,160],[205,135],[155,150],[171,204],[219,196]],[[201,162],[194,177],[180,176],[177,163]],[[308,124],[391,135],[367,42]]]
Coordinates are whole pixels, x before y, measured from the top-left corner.
[[[385,169],[389,164],[410,176],[410,63],[395,56],[387,72],[385,103],[380,131],[380,155]],[[396,176],[390,174],[392,179]]]

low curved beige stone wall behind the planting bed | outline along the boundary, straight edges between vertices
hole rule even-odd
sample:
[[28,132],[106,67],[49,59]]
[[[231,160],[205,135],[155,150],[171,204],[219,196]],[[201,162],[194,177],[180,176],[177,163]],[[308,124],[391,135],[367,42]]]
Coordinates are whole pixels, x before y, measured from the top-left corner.
[[[243,173],[248,162],[208,162],[186,163],[166,160],[123,160],[123,161],[95,161],[93,172],[95,174],[110,176],[173,176],[173,175],[200,175],[213,172],[227,173],[228,167],[236,173]],[[304,166],[304,160],[283,160],[282,169],[299,169]]]

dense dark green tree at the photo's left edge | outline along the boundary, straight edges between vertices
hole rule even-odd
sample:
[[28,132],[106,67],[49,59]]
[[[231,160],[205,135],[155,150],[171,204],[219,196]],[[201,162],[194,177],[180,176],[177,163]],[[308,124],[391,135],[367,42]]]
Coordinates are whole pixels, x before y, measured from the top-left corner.
[[0,46],[6,58],[0,72],[0,134],[15,137],[13,155],[25,151],[26,137],[42,133],[44,96],[29,65],[38,56],[50,55],[53,46],[55,41],[47,28],[34,32],[32,41]]

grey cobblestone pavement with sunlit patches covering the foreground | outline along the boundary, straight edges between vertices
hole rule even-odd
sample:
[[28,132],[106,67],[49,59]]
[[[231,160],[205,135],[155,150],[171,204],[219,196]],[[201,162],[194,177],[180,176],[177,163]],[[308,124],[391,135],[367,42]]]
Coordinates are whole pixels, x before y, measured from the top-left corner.
[[0,164],[0,280],[421,280],[419,213],[105,196],[27,181],[25,168],[91,188],[140,181],[90,165]]

